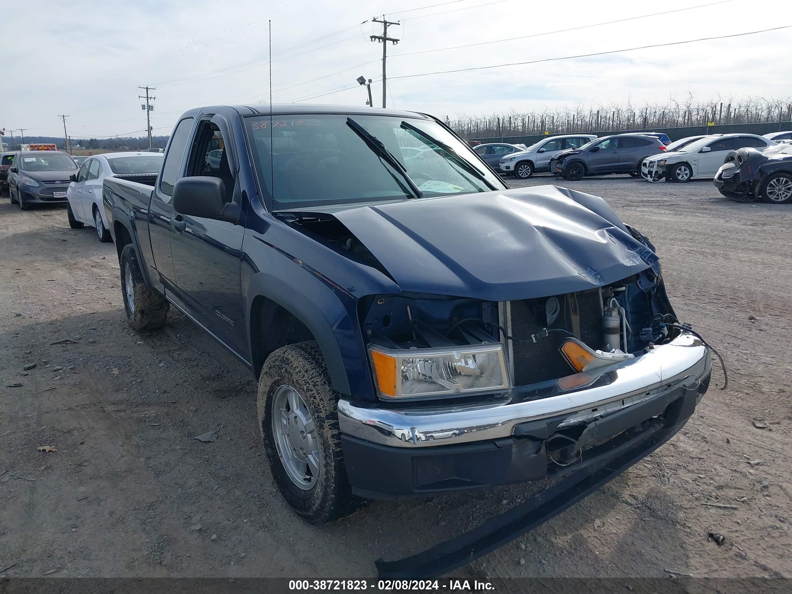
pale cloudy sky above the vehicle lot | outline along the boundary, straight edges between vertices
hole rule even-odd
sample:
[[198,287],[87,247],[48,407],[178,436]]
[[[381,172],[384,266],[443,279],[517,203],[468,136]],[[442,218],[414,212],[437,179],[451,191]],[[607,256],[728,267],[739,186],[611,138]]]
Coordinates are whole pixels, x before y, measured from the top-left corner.
[[[792,29],[591,58],[398,78],[792,25],[790,0],[767,0],[756,10],[737,0],[713,2],[4,2],[0,128],[27,128],[25,135],[60,135],[63,125],[58,114],[66,113],[74,137],[144,135],[146,114],[140,109],[139,85],[157,87],[154,134],[169,133],[186,109],[266,102],[268,19],[272,19],[273,102],[298,101],[353,86],[310,102],[363,105],[365,88],[355,86],[355,79],[362,74],[376,80],[382,73],[382,46],[368,39],[381,29],[370,21],[375,13],[389,13],[390,21],[402,22],[389,29],[391,36],[401,39],[388,47],[387,102],[397,109],[453,119],[459,112],[485,114],[512,108],[526,112],[580,102],[607,104],[628,97],[634,103],[663,101],[668,93],[680,98],[688,91],[699,99],[717,93],[790,97]],[[430,5],[438,6],[409,10]],[[711,6],[668,12],[703,5]],[[551,33],[661,11],[658,16]],[[428,51],[518,36],[530,37]],[[307,42],[313,43],[303,45]],[[378,106],[381,89],[379,82],[372,86]]]

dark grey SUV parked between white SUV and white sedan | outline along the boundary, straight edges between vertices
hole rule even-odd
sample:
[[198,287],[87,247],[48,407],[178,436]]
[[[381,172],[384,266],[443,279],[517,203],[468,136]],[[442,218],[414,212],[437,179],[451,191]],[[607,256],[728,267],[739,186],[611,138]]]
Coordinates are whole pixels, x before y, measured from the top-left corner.
[[550,160],[550,173],[576,181],[586,175],[630,173],[637,177],[641,162],[665,145],[655,136],[618,134],[592,140],[577,149],[562,150]]

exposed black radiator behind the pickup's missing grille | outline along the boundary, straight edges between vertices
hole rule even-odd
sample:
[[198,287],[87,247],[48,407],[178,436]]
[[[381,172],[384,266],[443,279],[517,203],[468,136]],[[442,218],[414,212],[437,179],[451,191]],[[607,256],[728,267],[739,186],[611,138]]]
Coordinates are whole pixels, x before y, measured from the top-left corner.
[[[509,307],[511,335],[530,340],[531,334],[545,327],[558,328],[579,333],[581,341],[591,348],[603,348],[600,290],[557,295],[557,298],[561,310],[550,326],[546,322],[547,298],[512,301]],[[574,323],[576,316],[573,314],[576,302],[577,324]],[[567,336],[562,332],[551,332],[548,337],[536,342],[512,341],[514,385],[524,386],[573,374],[574,370],[558,350]]]

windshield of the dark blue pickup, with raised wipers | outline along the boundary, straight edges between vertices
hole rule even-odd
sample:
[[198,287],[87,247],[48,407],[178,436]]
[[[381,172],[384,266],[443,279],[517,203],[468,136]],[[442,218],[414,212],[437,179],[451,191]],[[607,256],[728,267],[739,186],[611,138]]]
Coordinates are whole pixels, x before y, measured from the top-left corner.
[[[398,162],[376,150],[355,124]],[[505,188],[466,143],[432,120],[310,114],[275,117],[270,128],[268,116],[257,116],[246,118],[246,131],[273,210],[406,200],[416,197],[411,181],[425,197]]]

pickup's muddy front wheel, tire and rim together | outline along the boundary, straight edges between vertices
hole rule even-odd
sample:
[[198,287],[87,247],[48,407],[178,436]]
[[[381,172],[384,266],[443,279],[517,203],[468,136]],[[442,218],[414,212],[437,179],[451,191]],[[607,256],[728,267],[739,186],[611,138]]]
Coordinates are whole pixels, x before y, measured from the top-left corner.
[[315,341],[278,348],[261,369],[258,426],[272,478],[291,508],[311,524],[333,522],[365,503],[352,495],[347,480],[340,397]]

